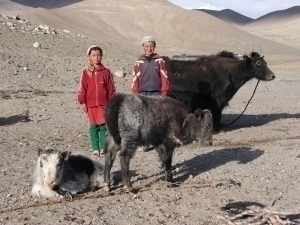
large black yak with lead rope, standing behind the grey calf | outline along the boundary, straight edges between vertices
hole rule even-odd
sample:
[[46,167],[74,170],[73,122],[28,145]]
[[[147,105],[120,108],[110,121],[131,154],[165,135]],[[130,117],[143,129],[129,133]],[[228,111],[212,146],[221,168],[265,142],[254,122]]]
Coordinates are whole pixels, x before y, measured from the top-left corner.
[[170,80],[170,97],[183,102],[190,112],[209,108],[216,131],[221,128],[222,110],[240,87],[252,78],[264,81],[275,78],[264,56],[256,52],[244,55],[243,60],[227,51],[202,56],[195,61],[164,59]]

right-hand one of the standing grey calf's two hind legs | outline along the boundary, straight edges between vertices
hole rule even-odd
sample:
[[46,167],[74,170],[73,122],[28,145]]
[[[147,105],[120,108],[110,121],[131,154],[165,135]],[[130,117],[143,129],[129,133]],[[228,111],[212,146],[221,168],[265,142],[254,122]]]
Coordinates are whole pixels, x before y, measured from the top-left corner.
[[131,188],[130,176],[129,176],[129,164],[130,159],[134,155],[135,150],[137,149],[136,142],[133,140],[127,141],[125,138],[122,139],[121,144],[121,151],[120,151],[120,163],[121,163],[121,170],[122,170],[122,180],[124,188]]

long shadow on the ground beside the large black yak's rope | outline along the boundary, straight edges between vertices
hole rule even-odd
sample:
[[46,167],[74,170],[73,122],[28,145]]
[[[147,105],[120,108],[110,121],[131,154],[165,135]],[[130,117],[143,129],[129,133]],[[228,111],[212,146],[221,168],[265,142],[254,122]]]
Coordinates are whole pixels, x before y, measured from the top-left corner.
[[247,115],[243,114],[236,122],[232,125],[228,125],[233,120],[237,119],[240,114],[224,114],[222,115],[223,127],[226,131],[237,130],[246,127],[258,127],[270,123],[272,121],[280,119],[299,119],[300,113],[289,114],[289,113],[277,113],[277,114],[259,114],[259,115]]

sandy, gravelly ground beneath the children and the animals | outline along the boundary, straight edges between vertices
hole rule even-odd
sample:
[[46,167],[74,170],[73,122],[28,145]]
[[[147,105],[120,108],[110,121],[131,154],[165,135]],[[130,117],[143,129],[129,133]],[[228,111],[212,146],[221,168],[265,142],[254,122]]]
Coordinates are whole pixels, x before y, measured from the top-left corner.
[[[1,224],[227,224],[224,218],[252,207],[299,218],[299,62],[269,62],[276,79],[259,83],[244,115],[215,134],[212,146],[176,149],[174,184],[162,181],[155,152],[138,151],[130,167],[132,192],[119,183],[109,194],[100,189],[73,201],[34,199],[30,191],[38,148],[90,154],[76,88],[84,53],[95,42],[65,32],[35,32],[29,23],[1,16],[0,22]],[[41,49],[32,47],[35,41]],[[128,92],[137,54],[96,43],[103,46],[112,71],[126,72],[115,81],[119,92]],[[256,82],[238,91],[224,110],[223,123],[239,116]],[[30,121],[23,122],[27,110]],[[120,181],[118,158],[113,171]]]

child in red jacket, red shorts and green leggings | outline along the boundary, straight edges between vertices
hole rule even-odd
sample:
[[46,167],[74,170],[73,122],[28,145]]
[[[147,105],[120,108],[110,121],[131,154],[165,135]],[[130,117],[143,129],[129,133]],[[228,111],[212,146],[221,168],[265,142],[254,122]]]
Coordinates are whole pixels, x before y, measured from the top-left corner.
[[108,100],[116,93],[112,73],[101,63],[103,52],[97,45],[87,50],[88,65],[83,69],[78,89],[78,102],[87,113],[93,156],[104,156],[106,125],[104,111]]

